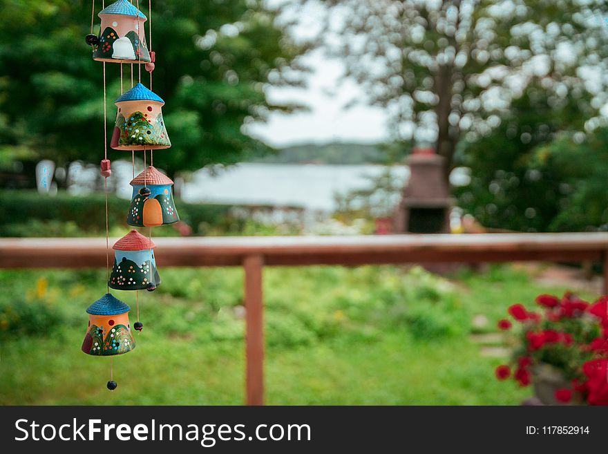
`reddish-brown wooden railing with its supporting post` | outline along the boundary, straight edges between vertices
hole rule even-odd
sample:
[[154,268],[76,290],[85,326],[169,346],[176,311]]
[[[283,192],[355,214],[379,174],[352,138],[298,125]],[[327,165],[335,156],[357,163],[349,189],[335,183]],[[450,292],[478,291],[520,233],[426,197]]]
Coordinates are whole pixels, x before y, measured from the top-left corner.
[[[160,267],[243,266],[246,403],[264,402],[262,270],[267,266],[599,261],[608,233],[155,238]],[[113,244],[111,240],[110,244]],[[0,268],[106,266],[105,238],[0,238]]]

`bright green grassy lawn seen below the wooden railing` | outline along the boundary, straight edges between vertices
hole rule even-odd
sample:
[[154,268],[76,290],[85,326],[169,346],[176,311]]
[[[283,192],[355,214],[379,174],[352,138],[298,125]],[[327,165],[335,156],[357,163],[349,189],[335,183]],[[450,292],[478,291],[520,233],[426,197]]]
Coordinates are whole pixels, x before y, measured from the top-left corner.
[[[144,331],[114,359],[109,392],[110,360],[79,349],[105,272],[0,272],[0,404],[242,404],[242,271],[160,273],[157,291],[140,292]],[[485,314],[492,332],[512,303],[564,290],[510,267],[453,280],[389,266],[267,268],[267,404],[519,404],[531,390],[495,380],[506,358],[480,354],[471,320]],[[113,293],[133,323],[135,294]],[[39,317],[15,316],[19,304],[53,315],[47,334]]]

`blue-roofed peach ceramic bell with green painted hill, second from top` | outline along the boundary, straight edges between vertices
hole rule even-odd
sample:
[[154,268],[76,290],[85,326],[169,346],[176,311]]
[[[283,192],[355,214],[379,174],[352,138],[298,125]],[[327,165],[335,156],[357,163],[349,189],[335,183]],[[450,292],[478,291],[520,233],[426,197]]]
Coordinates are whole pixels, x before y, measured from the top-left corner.
[[110,146],[115,150],[158,150],[171,146],[162,120],[162,98],[142,84],[123,93]]

